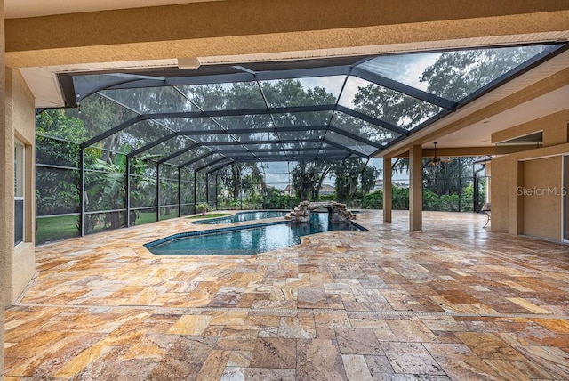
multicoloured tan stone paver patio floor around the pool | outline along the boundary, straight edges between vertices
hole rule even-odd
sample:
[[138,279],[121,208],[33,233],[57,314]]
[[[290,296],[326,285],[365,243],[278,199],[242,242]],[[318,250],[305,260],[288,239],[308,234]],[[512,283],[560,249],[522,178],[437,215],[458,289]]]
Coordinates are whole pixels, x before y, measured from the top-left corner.
[[37,247],[5,379],[569,379],[569,247],[485,219],[361,213],[248,257],[141,246],[211,228],[185,218]]

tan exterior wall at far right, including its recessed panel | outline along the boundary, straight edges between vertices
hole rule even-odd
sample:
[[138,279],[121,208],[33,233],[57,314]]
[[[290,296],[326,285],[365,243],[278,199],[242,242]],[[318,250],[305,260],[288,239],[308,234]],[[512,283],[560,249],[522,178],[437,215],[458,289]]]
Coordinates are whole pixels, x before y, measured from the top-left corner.
[[543,131],[544,146],[493,159],[492,231],[562,239],[562,158],[569,153],[568,121],[565,110],[496,134],[514,137]]

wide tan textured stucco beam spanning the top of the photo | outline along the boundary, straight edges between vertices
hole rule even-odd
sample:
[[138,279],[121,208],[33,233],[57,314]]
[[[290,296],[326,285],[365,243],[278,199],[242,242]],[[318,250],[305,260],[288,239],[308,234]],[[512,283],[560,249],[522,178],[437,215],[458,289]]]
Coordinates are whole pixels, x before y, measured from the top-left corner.
[[20,68],[318,49],[341,54],[343,47],[567,28],[569,11],[559,0],[211,1],[6,20],[6,61]]

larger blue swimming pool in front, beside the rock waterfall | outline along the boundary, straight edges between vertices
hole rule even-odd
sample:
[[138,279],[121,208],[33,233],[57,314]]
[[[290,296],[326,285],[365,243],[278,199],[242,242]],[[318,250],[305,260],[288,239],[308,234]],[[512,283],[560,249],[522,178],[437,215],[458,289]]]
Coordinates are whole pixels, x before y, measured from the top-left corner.
[[328,223],[327,213],[313,213],[310,223],[258,223],[192,231],[149,242],[155,255],[252,255],[298,245],[301,237],[323,231],[363,231],[356,223]]

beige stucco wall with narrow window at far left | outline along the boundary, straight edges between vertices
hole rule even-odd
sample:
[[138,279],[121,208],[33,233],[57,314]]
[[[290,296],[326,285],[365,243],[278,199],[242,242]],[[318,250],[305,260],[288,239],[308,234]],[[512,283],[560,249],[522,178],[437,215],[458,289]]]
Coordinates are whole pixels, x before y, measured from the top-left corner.
[[[5,305],[12,304],[28,285],[36,272],[36,258],[34,250],[35,218],[36,218],[36,183],[35,183],[35,129],[36,117],[34,97],[29,91],[18,69],[6,69],[6,100],[5,124],[8,136],[6,147],[6,173],[12,174],[9,184],[13,184],[13,146],[18,140],[25,146],[25,177],[24,177],[24,242],[13,246],[13,186],[7,190],[9,199],[12,199],[11,211],[6,214],[7,227],[11,231],[11,249],[6,257],[6,284]],[[10,148],[10,150],[8,150]]]

